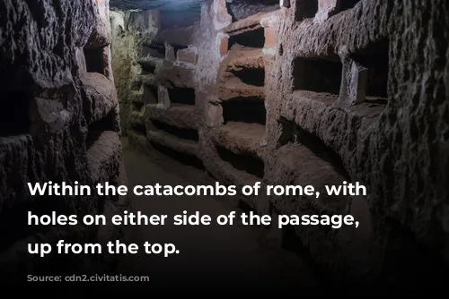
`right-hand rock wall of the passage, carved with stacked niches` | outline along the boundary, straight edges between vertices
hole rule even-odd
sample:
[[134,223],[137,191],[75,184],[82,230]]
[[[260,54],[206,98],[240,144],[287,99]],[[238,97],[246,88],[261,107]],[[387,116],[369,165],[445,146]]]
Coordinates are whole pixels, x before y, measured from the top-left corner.
[[309,257],[323,278],[441,283],[449,257],[448,4],[270,7],[236,20],[225,1],[209,1],[198,23],[158,30],[137,55],[131,144],[225,184],[313,184],[321,195],[326,184],[365,184],[365,197],[237,201],[273,216],[354,215],[357,229],[261,228]]

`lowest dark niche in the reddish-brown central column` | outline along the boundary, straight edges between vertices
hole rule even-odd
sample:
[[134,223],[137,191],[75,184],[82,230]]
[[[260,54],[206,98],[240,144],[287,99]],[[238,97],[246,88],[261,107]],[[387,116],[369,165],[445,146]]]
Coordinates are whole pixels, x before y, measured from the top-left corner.
[[217,146],[216,150],[220,158],[231,164],[233,168],[259,178],[263,178],[265,175],[265,165],[260,158],[254,158],[250,155],[237,155],[231,150],[220,146]]

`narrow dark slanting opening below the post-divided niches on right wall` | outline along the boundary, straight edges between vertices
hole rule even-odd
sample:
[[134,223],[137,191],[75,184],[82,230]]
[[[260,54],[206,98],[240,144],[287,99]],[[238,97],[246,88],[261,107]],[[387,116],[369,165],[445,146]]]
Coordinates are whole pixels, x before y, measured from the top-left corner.
[[348,182],[351,181],[351,177],[348,174],[343,160],[339,155],[330,149],[320,138],[305,131],[298,124],[293,121],[289,121],[284,117],[281,117],[279,124],[281,125],[282,132],[279,138],[279,146],[284,146],[287,143],[301,143],[308,149],[312,150],[315,156],[328,162],[339,175],[342,175]]

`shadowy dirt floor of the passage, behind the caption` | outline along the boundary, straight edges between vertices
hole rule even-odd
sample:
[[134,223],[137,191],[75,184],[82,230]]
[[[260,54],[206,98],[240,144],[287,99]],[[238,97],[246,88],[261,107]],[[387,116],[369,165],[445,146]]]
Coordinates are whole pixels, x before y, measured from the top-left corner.
[[[159,155],[148,158],[123,140],[128,184],[215,184],[202,170]],[[134,212],[172,216],[199,211],[213,219],[235,209],[233,201],[206,196],[131,196]],[[258,241],[251,226],[128,226],[127,243],[174,243],[180,250],[163,255],[124,255],[119,286],[241,287],[316,286],[312,273],[295,254]],[[116,285],[118,286],[118,285]]]

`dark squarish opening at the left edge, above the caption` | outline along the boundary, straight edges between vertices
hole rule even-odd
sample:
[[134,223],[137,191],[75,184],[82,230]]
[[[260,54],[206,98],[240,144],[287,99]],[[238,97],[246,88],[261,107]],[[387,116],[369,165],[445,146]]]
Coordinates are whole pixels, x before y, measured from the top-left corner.
[[30,131],[30,98],[24,92],[0,91],[0,137]]

